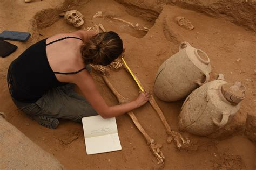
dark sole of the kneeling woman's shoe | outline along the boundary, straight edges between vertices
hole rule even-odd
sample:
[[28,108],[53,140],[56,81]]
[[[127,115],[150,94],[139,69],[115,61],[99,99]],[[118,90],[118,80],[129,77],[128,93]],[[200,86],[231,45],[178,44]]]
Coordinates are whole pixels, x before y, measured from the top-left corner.
[[32,119],[37,121],[39,125],[50,129],[56,129],[59,125],[59,120],[50,116],[34,116]]

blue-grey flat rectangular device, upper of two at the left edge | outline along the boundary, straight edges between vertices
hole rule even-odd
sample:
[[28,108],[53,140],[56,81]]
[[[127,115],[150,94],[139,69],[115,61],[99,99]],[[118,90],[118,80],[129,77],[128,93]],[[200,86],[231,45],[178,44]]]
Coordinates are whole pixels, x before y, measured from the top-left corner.
[[30,37],[29,32],[18,32],[18,31],[8,31],[4,30],[0,34],[0,39],[5,39],[5,40],[14,40],[14,41],[26,41]]

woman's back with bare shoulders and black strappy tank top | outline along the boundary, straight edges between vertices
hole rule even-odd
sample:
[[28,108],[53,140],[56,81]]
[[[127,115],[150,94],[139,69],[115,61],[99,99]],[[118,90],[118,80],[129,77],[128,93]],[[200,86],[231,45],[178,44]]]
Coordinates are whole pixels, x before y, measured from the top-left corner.
[[[59,40],[65,38],[63,36],[70,38]],[[11,63],[8,84],[12,97],[19,101],[35,102],[45,91],[68,82],[65,81],[65,75],[53,72],[76,72],[85,67],[79,51],[83,41],[77,36],[71,36],[58,34],[43,39],[26,49]]]

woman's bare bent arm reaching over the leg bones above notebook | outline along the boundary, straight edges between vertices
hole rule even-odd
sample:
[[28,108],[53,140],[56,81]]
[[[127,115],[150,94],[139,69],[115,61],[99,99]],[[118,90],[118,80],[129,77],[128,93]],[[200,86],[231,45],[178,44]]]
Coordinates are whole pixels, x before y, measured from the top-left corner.
[[83,95],[86,97],[86,100],[103,118],[110,118],[125,114],[126,112],[144,105],[149,100],[148,93],[141,93],[134,101],[120,105],[109,106],[104,101],[102,95],[100,95],[91,75],[87,71],[78,73],[73,83],[77,84]]

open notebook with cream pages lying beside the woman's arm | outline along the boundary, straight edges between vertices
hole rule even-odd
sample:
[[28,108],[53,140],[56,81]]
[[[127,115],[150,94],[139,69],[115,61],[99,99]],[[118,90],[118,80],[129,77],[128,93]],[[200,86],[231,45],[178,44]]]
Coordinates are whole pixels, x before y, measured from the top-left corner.
[[83,129],[87,154],[122,150],[117,133],[116,118],[101,116],[83,117]]

